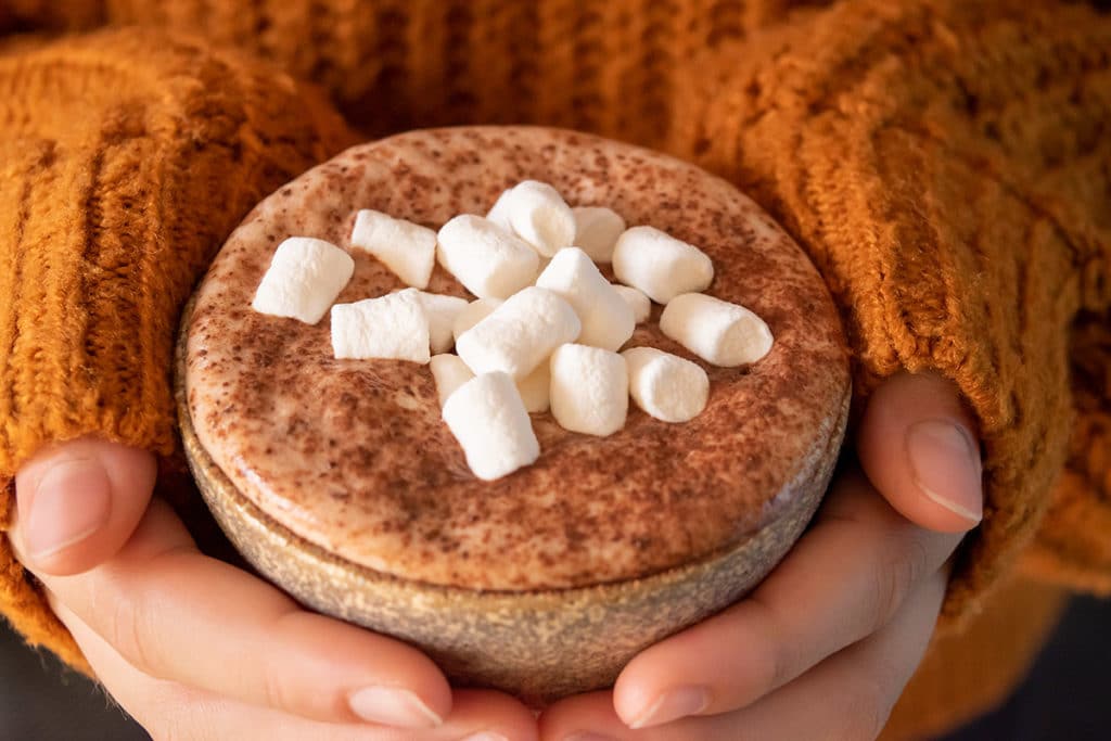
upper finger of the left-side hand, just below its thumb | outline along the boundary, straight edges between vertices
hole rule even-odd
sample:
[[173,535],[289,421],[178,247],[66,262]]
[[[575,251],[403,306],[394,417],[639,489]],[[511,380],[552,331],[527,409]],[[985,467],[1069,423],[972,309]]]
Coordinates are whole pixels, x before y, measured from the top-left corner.
[[111,561],[40,579],[128,662],[159,679],[324,721],[432,728],[451,708],[447,680],[417,649],[307,612],[202,555],[159,500]]

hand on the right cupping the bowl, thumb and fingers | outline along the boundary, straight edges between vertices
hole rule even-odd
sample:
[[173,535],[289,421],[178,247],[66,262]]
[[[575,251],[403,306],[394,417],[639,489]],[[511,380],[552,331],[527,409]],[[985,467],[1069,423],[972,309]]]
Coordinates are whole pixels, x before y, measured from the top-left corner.
[[549,708],[541,738],[874,739],[933,632],[947,561],[980,520],[974,429],[949,382],[884,382],[858,431],[868,478],[839,473],[752,594],[641,652],[612,692]]

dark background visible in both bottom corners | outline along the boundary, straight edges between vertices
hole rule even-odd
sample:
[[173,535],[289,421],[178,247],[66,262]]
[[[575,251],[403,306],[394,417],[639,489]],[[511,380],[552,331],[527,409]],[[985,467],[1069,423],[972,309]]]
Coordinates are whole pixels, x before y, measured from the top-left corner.
[[[0,740],[148,738],[91,682],[0,629]],[[1027,682],[1000,710],[945,741],[1109,740],[1111,601],[1077,598]]]

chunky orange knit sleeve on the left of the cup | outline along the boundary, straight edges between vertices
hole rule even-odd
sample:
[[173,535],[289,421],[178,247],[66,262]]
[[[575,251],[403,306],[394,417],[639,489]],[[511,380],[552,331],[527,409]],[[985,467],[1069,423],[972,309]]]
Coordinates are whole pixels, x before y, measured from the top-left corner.
[[0,58],[0,612],[81,667],[3,537],[12,477],[84,434],[173,457],[180,304],[243,214],[348,133],[281,73],[136,30]]

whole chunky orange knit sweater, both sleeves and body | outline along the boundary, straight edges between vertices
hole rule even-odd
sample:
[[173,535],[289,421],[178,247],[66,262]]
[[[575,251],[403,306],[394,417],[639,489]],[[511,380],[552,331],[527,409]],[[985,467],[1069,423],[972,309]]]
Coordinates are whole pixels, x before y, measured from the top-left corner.
[[[737,182],[829,282],[858,402],[934,368],[979,417],[985,517],[947,624],[1020,557],[1111,591],[1111,17],[1037,4],[0,6],[0,483],[86,433],[176,470],[182,300],[256,200],[350,141],[284,70],[364,136],[563,126]],[[80,664],[2,538],[0,611]]]

